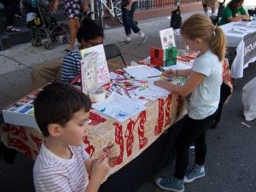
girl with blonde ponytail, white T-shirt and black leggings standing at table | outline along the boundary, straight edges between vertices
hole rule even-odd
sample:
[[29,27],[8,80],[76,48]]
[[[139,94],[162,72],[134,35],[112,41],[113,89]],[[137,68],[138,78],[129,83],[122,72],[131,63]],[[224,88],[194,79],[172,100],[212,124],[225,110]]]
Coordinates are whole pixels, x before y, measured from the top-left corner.
[[[222,63],[226,39],[218,26],[213,26],[206,15],[192,15],[183,22],[181,34],[189,48],[199,51],[192,69],[167,70],[166,77],[187,77],[183,85],[158,80],[154,84],[186,96],[188,113],[177,137],[175,172],[172,177],[157,178],[161,189],[183,191],[184,183],[205,176],[207,154],[206,130],[218,108],[220,85],[222,84]],[[189,146],[195,143],[195,165],[189,170]]]

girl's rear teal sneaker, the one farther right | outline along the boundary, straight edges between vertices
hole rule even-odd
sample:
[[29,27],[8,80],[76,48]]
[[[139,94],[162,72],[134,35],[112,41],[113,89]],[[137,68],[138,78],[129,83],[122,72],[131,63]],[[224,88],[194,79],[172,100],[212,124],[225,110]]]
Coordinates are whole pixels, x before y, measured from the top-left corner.
[[196,178],[204,177],[206,175],[204,166],[192,166],[184,177],[184,183],[193,182]]

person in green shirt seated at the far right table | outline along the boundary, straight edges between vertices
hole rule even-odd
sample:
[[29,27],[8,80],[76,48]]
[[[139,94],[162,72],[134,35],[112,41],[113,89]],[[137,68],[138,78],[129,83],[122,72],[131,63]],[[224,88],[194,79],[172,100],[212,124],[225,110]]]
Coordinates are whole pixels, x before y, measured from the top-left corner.
[[241,20],[251,20],[250,15],[242,7],[244,0],[231,0],[224,9],[224,14],[219,22],[219,26],[229,22],[236,22]]

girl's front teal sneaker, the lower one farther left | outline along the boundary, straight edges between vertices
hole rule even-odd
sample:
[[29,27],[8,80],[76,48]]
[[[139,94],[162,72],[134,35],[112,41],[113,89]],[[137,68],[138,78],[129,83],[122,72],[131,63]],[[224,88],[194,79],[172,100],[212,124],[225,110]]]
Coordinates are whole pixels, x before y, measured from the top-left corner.
[[184,191],[183,180],[177,179],[176,177],[157,178],[155,180],[160,189],[172,190],[176,192]]

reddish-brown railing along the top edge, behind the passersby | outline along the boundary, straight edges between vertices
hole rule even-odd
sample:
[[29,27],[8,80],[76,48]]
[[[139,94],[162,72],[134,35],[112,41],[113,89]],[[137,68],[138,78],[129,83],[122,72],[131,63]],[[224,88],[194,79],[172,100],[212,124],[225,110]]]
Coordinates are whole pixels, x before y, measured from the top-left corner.
[[[180,4],[183,3],[201,3],[201,0],[180,0]],[[138,9],[164,8],[176,4],[177,0],[138,0]]]

